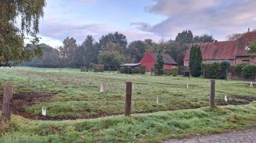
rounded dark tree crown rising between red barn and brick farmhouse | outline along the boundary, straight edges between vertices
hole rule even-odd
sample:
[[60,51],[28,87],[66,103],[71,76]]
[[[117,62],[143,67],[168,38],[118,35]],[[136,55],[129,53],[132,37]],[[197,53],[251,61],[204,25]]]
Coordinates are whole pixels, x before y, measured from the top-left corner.
[[183,30],[183,32],[178,33],[175,41],[179,41],[181,45],[184,43],[191,44],[193,42],[193,33],[191,30]]

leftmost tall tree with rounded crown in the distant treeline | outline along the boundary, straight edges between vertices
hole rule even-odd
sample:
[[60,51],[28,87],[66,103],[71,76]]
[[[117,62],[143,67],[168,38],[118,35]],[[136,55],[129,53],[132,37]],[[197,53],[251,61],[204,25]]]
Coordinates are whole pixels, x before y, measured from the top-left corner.
[[76,40],[72,37],[66,37],[63,41],[63,47],[60,47],[60,57],[62,60],[62,67],[73,67],[74,66],[74,52],[77,48]]

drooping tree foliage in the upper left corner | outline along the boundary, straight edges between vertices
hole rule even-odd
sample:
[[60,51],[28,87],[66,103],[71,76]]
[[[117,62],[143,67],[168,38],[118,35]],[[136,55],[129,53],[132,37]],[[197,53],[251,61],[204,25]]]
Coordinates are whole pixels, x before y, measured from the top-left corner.
[[[35,56],[42,56],[36,35],[45,6],[45,0],[0,1],[0,67],[21,64]],[[21,28],[17,26],[18,17],[21,18]],[[25,44],[24,39],[28,37],[31,37],[29,43]]]

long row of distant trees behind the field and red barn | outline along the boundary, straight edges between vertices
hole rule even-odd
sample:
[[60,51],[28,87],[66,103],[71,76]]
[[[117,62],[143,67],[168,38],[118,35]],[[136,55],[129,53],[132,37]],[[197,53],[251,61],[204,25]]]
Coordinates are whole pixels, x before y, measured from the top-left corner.
[[63,41],[63,47],[58,49],[40,44],[40,47],[43,47],[43,56],[25,62],[24,65],[44,68],[79,68],[94,63],[117,67],[123,63],[138,63],[147,51],[157,52],[159,49],[169,53],[179,65],[183,65],[185,53],[191,43],[212,41],[214,41],[212,35],[194,36],[190,30],[178,33],[175,40],[166,41],[161,38],[159,42],[154,42],[148,38],[144,41],[135,40],[129,44],[126,36],[118,32],[103,35],[99,41],[95,41],[91,35],[88,35],[81,45],[77,45],[73,37],[67,37]]

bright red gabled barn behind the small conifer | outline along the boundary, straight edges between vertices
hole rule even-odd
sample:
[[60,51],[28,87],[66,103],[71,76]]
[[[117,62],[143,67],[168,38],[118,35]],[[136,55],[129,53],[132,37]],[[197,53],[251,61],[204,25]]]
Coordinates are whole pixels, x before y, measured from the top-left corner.
[[[154,68],[155,59],[157,59],[157,54],[155,52],[147,52],[145,56],[139,61],[139,63],[142,63],[146,65],[146,70],[151,71],[151,67]],[[176,67],[177,63],[175,60],[170,57],[168,53],[163,53],[164,56],[164,68],[170,69],[172,67]]]

